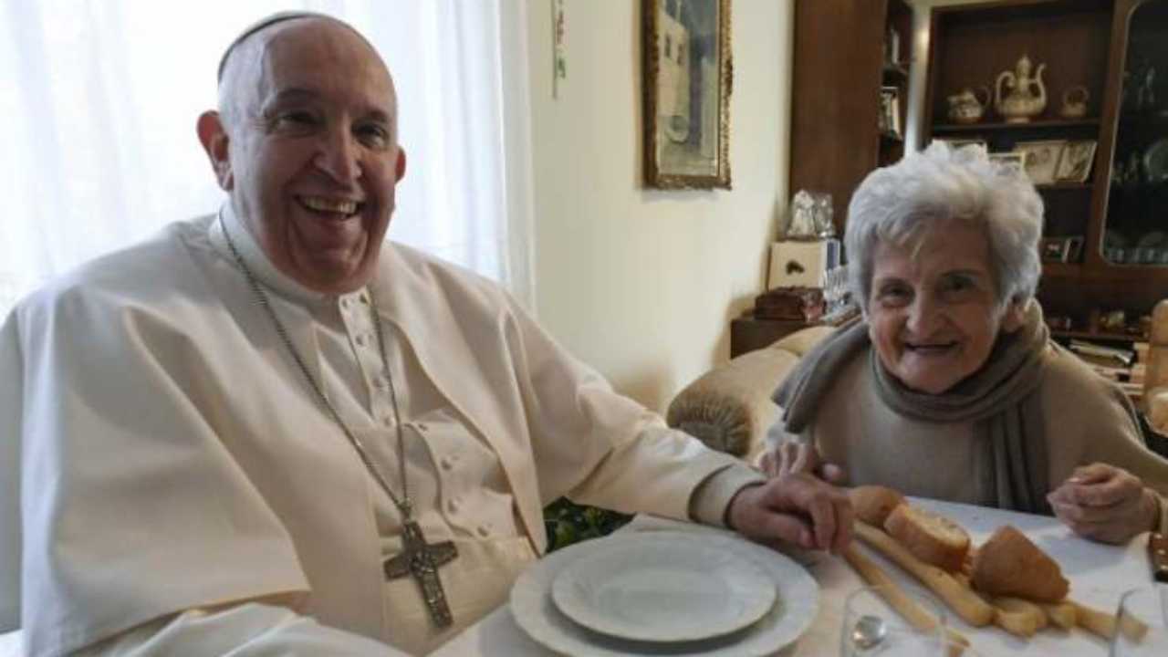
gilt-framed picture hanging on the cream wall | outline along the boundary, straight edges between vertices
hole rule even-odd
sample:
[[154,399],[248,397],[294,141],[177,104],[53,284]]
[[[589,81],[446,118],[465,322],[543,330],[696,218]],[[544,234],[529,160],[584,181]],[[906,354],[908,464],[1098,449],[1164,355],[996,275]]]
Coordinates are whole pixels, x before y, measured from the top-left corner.
[[730,0],[641,0],[645,184],[730,188]]

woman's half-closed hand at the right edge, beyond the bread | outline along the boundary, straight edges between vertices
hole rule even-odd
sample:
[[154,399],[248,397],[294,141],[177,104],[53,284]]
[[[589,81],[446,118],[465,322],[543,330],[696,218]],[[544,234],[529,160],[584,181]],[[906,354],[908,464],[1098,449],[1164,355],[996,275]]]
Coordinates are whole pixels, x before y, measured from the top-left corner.
[[1106,463],[1077,468],[1047,502],[1076,534],[1101,542],[1127,542],[1159,520],[1156,493],[1139,477]]

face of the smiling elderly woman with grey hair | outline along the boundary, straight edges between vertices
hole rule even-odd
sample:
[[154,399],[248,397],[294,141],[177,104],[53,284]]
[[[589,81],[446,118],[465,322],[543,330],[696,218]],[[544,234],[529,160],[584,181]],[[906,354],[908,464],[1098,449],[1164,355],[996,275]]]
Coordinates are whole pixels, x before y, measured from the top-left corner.
[[881,364],[913,390],[948,390],[986,364],[999,331],[1022,325],[1021,310],[1000,310],[995,291],[978,227],[945,222],[916,249],[877,244],[868,332]]

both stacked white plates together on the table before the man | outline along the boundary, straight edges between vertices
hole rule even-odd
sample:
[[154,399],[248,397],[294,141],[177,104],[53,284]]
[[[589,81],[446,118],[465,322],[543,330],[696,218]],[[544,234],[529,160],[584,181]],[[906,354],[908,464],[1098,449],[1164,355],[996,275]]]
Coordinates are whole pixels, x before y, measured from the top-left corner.
[[617,534],[549,554],[512,588],[515,622],[565,655],[762,657],[815,617],[798,563],[732,537]]

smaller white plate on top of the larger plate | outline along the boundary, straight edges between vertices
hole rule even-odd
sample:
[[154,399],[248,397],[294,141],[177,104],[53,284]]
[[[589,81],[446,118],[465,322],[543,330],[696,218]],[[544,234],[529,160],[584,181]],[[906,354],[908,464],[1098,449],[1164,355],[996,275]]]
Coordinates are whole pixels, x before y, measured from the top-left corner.
[[741,630],[774,604],[774,585],[724,546],[646,534],[597,545],[564,567],[551,600],[585,628],[634,641],[697,641]]

